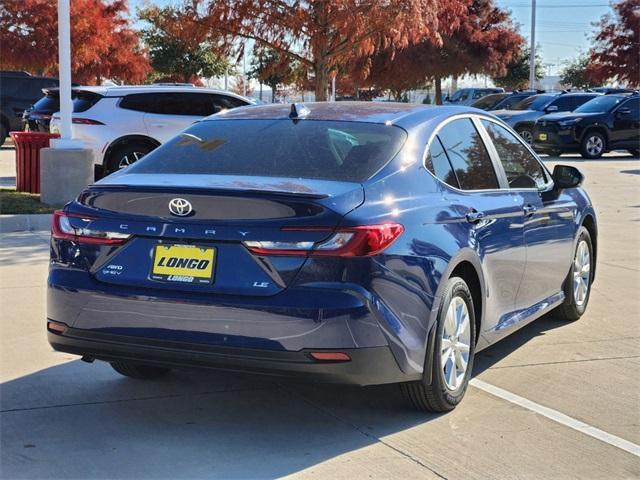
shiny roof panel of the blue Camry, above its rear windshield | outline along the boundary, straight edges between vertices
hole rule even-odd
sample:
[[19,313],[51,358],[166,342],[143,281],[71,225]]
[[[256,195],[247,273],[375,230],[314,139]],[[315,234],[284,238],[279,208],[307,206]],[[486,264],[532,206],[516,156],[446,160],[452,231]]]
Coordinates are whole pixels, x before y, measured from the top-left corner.
[[[298,111],[302,106],[309,110],[309,113],[302,117],[305,120],[383,123],[403,127],[460,113],[484,113],[482,110],[465,106],[395,102],[309,102],[295,105]],[[289,119],[291,106],[292,104],[288,103],[234,108],[207,117],[205,121]]]

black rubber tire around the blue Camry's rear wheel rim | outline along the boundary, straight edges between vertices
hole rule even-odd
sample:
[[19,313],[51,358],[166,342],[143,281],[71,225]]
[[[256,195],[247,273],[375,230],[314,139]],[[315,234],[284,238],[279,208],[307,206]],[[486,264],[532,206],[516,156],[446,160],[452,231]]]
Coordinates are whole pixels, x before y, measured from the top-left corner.
[[[451,389],[445,380],[444,365],[442,363],[442,341],[447,311],[449,310],[451,302],[456,298],[461,299],[467,307],[469,320],[469,356],[467,369],[462,381],[457,388]],[[422,380],[400,384],[403,395],[416,409],[428,412],[448,412],[460,403],[467,391],[471,371],[473,370],[476,343],[475,325],[473,298],[469,287],[461,278],[450,278],[445,287],[444,298],[438,311],[438,323],[434,326],[436,330],[433,341],[433,354],[426,356],[424,366],[425,375]],[[430,382],[427,380],[429,377],[431,379]]]

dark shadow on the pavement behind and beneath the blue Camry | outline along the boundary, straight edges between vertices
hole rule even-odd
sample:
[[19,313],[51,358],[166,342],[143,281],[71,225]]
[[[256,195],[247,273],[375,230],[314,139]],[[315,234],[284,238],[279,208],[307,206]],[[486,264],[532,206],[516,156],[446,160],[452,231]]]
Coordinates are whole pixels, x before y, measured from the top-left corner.
[[[145,382],[78,360],[1,392],[4,478],[276,478],[435,418],[412,411],[393,385],[207,371]],[[340,410],[375,423],[354,425]]]

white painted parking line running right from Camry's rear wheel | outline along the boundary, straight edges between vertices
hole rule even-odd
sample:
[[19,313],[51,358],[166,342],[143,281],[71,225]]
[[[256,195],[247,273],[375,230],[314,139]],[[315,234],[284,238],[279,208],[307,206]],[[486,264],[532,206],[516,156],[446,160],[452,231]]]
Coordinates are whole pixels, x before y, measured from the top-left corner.
[[554,422],[561,423],[562,425],[573,428],[574,430],[582,432],[585,435],[597,438],[601,442],[608,443],[609,445],[624,450],[625,452],[629,452],[636,457],[640,457],[640,445],[636,445],[633,442],[620,437],[616,437],[615,435],[611,435],[610,433],[602,431],[587,423],[581,422],[580,420],[576,420],[575,418],[565,415],[564,413],[560,413],[556,410],[540,405],[539,403],[527,400],[526,398],[516,395],[515,393],[508,392],[506,390],[503,390],[502,388],[483,382],[482,380],[478,380],[477,378],[473,378],[469,383],[474,387],[479,388],[480,390],[484,390],[485,392],[506,400],[507,402],[519,405],[523,408],[526,408],[527,410],[531,410],[532,412],[547,417]]

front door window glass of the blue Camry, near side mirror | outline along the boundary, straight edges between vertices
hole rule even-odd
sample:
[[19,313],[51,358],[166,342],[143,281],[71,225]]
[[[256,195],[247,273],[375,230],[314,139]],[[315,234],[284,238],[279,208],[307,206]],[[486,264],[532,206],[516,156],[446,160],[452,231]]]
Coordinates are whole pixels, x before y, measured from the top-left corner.
[[482,125],[498,152],[510,188],[542,188],[547,184],[544,168],[514,134],[488,120],[482,120]]

